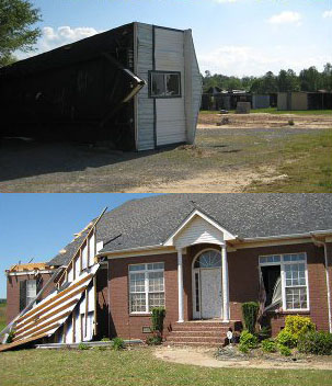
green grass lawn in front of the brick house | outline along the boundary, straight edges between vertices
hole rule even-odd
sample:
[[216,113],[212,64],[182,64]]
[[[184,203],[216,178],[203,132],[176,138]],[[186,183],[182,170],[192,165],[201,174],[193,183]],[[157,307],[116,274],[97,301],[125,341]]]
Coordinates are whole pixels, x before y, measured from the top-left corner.
[[236,370],[157,360],[152,349],[131,351],[22,350],[0,353],[0,384],[43,386],[328,386],[331,371]]

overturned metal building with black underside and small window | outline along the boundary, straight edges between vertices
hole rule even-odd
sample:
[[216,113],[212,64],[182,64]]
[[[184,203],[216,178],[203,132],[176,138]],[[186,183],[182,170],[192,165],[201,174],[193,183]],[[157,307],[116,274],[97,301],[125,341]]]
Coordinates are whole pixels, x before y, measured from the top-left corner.
[[0,69],[2,136],[194,143],[202,78],[191,30],[130,23]]

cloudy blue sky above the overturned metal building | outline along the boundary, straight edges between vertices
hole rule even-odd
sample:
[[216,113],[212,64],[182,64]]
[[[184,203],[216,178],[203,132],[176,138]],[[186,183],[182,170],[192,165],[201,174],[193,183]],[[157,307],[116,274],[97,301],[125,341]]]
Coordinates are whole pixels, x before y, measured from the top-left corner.
[[[202,72],[322,70],[332,61],[332,0],[35,0],[38,52],[139,21],[192,29]],[[22,56],[20,56],[22,57]]]

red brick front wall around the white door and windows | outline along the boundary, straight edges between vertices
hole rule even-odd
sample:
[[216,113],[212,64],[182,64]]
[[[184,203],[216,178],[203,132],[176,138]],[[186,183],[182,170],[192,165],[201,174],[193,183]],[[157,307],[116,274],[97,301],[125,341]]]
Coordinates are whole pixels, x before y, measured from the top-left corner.
[[[206,248],[220,250],[218,246],[198,245],[187,248],[183,256],[184,319],[192,319],[192,262],[194,257]],[[330,253],[332,247],[330,246]],[[323,249],[311,243],[279,247],[242,249],[228,253],[230,318],[241,320],[241,305],[256,300],[259,296],[259,257],[273,253],[307,252],[309,274],[309,299],[312,321],[320,330],[328,330],[328,300]],[[330,254],[332,257],[332,254]],[[332,259],[331,259],[332,260]],[[178,257],[176,253],[149,257],[125,258],[108,261],[110,333],[123,338],[147,338],[142,326],[150,326],[150,316],[129,315],[128,264],[164,262],[165,281],[165,334],[178,320]],[[331,266],[332,270],[332,266]],[[332,276],[332,272],[331,272]],[[277,333],[284,326],[286,314],[272,316],[272,330]]]

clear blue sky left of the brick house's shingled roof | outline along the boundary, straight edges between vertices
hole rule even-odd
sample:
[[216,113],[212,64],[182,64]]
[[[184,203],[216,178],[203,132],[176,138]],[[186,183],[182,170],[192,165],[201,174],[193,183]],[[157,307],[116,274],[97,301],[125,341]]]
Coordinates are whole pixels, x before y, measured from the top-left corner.
[[0,194],[0,298],[5,295],[4,270],[10,265],[45,262],[90,220],[127,200],[150,194]]

